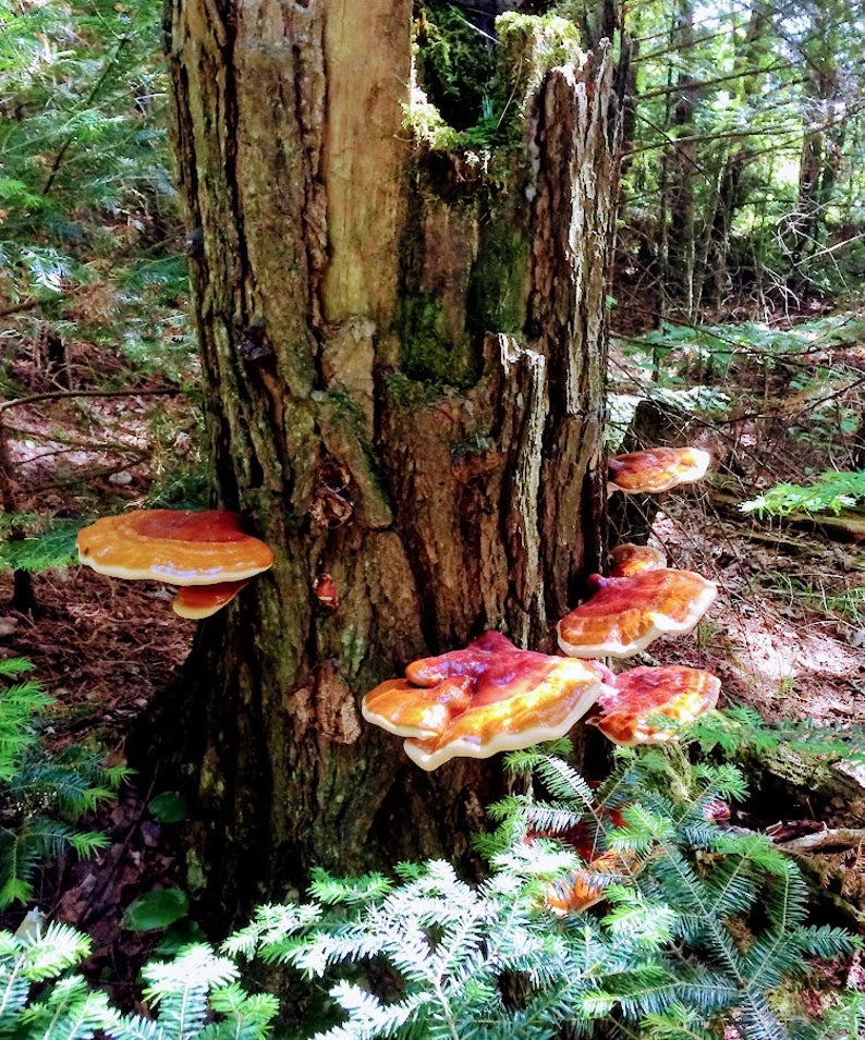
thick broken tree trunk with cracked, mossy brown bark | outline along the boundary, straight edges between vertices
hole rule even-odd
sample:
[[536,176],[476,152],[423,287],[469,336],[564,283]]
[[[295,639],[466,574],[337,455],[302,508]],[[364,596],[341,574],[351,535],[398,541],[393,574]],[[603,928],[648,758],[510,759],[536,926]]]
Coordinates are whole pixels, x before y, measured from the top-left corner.
[[551,649],[598,564],[618,108],[608,47],[545,71],[494,183],[403,129],[410,0],[172,0],[167,34],[219,501],[276,556],[186,672],[232,908],[314,864],[465,856],[498,794],[358,703],[485,628]]

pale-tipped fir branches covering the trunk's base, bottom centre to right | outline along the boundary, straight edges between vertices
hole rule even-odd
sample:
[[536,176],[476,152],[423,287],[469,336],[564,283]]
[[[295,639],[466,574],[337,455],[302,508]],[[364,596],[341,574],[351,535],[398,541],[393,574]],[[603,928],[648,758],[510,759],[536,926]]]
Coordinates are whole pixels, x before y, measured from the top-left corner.
[[[717,799],[744,794],[740,771],[683,769],[677,756],[625,751],[595,788],[561,758],[515,753],[510,766],[532,769],[547,797],[491,808],[498,829],[478,841],[492,868],[485,883],[466,884],[442,861],[401,865],[392,880],[318,871],[313,902],[259,908],[224,951],[328,977],[343,1020],[318,1040],[551,1040],[601,1025],[622,1037],[708,1038],[721,1023],[743,1040],[817,1036],[804,1014],[782,1024],[776,993],[807,957],[849,953],[855,940],[805,923],[799,870],[768,839],[715,822]],[[559,918],[545,892],[587,867],[555,837],[577,827],[593,858],[614,849],[626,869],[596,876],[606,914]],[[838,1031],[827,1019],[819,1035],[845,1036],[851,1007]]]

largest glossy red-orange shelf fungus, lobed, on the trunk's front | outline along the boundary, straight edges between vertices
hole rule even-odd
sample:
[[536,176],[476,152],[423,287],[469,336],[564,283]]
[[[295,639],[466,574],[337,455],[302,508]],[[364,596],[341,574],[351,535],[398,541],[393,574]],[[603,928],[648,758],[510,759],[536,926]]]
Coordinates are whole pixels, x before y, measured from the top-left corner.
[[364,697],[363,715],[398,736],[422,769],[489,758],[563,736],[604,692],[599,662],[520,650],[488,632],[464,650],[415,661]]

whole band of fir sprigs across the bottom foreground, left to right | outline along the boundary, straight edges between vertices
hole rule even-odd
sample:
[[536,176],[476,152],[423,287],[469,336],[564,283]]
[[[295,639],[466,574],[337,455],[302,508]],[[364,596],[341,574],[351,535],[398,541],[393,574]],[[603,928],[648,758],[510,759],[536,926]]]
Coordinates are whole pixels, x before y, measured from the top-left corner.
[[[856,994],[837,994],[819,1021],[796,1010],[809,958],[857,942],[811,926],[795,862],[724,823],[719,807],[745,794],[734,764],[683,766],[681,748],[621,750],[592,786],[565,751],[558,742],[509,756],[526,793],[491,807],[496,830],[477,840],[483,883],[441,860],[401,864],[392,877],[317,870],[307,902],[259,907],[219,953],[197,944],[149,965],[153,1018],[121,1015],[69,974],[83,937],[57,926],[4,935],[0,1035],[261,1038],[277,1002],[251,995],[237,967],[260,958],[301,972],[310,992],[327,987],[331,1025],[317,1040],[862,1036]],[[602,901],[553,913],[552,894],[580,882]]]

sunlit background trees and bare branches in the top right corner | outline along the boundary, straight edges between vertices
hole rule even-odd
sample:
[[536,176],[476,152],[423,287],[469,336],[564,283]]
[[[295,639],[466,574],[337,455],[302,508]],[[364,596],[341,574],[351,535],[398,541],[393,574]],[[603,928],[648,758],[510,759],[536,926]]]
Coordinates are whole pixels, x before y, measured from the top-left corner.
[[628,10],[639,56],[620,241],[641,281],[660,272],[668,314],[795,311],[805,293],[861,284],[858,8],[791,13],[732,0]]

